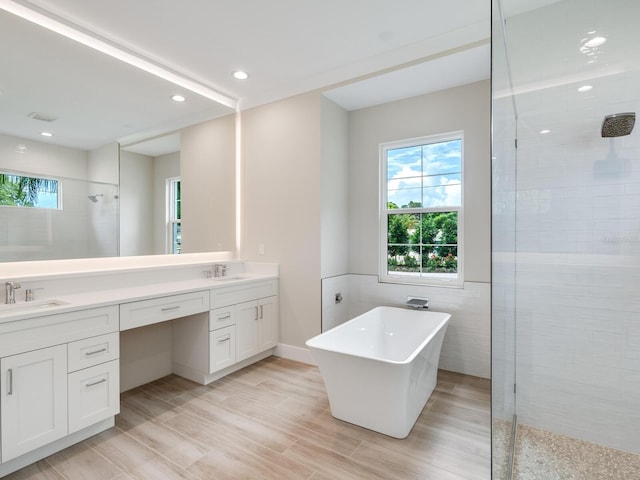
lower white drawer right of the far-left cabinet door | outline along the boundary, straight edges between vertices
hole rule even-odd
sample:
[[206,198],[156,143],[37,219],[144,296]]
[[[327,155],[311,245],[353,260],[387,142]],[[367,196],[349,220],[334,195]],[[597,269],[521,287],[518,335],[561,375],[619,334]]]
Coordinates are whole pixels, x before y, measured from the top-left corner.
[[69,433],[120,412],[120,368],[118,360],[70,373]]

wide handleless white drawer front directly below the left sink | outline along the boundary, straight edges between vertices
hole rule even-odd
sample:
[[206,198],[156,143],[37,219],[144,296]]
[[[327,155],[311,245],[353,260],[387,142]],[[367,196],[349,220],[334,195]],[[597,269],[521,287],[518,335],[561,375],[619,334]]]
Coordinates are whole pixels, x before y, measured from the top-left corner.
[[0,323],[0,352],[14,355],[118,331],[118,306]]

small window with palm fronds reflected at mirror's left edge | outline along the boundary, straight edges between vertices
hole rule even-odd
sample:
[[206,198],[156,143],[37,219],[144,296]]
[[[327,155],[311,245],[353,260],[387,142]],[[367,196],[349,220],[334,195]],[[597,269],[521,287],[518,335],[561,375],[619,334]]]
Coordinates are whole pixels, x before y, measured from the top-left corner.
[[28,208],[61,208],[58,180],[0,173],[0,205]]

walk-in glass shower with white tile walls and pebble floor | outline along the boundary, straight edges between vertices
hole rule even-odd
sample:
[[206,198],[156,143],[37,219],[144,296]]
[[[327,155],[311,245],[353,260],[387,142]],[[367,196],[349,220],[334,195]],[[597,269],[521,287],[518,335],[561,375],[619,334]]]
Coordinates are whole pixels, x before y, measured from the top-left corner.
[[496,480],[640,478],[638,22],[493,0]]

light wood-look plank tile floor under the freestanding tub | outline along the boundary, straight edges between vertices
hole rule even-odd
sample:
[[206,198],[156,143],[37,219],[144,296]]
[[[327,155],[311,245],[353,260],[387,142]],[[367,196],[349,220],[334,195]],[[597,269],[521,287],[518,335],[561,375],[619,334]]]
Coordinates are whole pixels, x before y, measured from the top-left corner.
[[314,366],[270,357],[202,386],[125,392],[116,426],[6,480],[489,480],[489,381],[440,371],[410,435],[331,416]]

